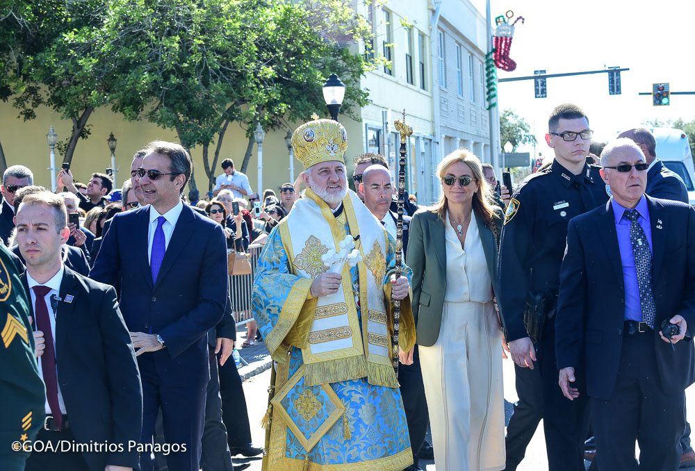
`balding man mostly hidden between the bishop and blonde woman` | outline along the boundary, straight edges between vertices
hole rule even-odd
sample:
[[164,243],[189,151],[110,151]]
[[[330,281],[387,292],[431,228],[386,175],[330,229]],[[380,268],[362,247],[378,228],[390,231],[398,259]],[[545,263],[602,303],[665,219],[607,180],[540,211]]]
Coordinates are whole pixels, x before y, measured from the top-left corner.
[[[368,210],[382,223],[386,232],[395,239],[398,214],[389,209],[392,194],[391,173],[382,165],[370,165],[361,175],[359,192],[363,197],[364,206],[367,206]],[[403,216],[403,260],[408,250],[408,228],[411,219],[410,216]],[[413,364],[402,364],[398,367],[398,382],[405,408],[405,418],[408,422],[410,445],[412,449],[419,450],[425,441],[430,415],[427,412],[425,385],[423,372],[420,370],[420,354],[417,345],[413,353]],[[408,471],[420,470],[418,458],[418,455],[414,453],[414,463],[406,468]]]

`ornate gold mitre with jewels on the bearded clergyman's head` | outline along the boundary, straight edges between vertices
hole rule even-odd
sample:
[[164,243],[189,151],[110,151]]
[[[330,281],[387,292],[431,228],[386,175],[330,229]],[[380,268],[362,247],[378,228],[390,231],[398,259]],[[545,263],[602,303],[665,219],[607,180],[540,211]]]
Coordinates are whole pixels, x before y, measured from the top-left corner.
[[[316,117],[316,115],[314,115]],[[304,170],[320,162],[338,160],[345,164],[347,132],[333,119],[314,119],[295,129],[292,148]]]

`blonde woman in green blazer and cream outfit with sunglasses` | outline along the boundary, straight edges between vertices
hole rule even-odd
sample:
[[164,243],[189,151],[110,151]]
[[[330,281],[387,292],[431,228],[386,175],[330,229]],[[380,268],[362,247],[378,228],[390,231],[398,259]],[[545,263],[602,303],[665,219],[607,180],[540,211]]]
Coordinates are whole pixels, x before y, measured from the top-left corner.
[[413,314],[438,470],[505,468],[497,291],[502,211],[466,150],[437,167],[439,204],[410,224]]

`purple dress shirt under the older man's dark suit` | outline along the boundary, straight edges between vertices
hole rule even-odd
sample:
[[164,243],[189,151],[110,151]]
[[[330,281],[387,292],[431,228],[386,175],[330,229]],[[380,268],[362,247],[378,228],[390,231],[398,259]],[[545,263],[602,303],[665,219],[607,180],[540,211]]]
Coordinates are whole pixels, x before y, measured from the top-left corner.
[[[625,320],[642,322],[642,308],[639,301],[639,285],[637,284],[637,269],[635,268],[635,256],[632,254],[632,242],[630,242],[630,220],[623,217],[627,208],[623,208],[615,199],[611,198],[613,213],[615,216],[615,230],[618,233],[618,247],[620,248],[620,260],[623,265],[623,281],[625,282]],[[639,218],[637,223],[644,231],[649,245],[649,251],[654,254],[651,243],[651,222],[647,199],[642,195],[635,206]]]

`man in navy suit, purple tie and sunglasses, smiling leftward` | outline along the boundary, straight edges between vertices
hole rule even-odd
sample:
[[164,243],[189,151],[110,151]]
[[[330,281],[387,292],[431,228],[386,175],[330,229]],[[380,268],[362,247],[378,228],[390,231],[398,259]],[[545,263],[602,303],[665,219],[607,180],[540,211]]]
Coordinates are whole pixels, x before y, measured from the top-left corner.
[[[227,245],[222,226],[181,202],[191,173],[188,152],[156,141],[137,170],[149,206],[113,217],[90,276],[120,281],[121,311],[142,376],[142,443],[152,443],[161,408],[172,471],[197,471],[205,391],[210,379],[206,333],[222,319]],[[195,280],[193,285],[190,280]],[[152,470],[149,449],[142,469]]]

